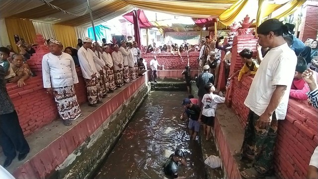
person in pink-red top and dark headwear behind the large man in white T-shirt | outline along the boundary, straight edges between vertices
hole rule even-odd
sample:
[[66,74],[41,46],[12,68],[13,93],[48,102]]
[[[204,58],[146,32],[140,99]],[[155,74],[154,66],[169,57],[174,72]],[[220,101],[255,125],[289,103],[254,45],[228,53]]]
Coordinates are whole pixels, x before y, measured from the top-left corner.
[[[297,57],[297,66],[295,70],[294,80],[290,89],[289,96],[305,100],[308,98],[307,92],[310,91],[308,84],[303,80],[302,74],[307,70],[307,63],[303,57]],[[313,72],[318,76],[317,72]]]

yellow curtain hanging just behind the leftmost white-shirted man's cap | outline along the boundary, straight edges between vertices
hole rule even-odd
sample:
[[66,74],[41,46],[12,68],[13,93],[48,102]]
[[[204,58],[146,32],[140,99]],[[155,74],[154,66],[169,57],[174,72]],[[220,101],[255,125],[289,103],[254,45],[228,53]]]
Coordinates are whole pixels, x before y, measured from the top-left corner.
[[63,47],[76,47],[78,38],[76,36],[75,28],[72,26],[53,24],[53,29],[56,34],[57,40],[60,40]]

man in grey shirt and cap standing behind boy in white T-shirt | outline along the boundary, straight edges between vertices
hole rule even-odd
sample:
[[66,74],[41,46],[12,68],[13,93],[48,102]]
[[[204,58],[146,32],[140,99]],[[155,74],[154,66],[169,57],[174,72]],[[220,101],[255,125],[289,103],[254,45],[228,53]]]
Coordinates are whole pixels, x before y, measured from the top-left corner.
[[214,76],[210,73],[210,66],[205,65],[203,66],[203,72],[198,76],[197,80],[197,87],[198,87],[198,105],[199,107],[202,106],[202,98],[207,91],[205,90],[205,85],[208,83],[214,84]]

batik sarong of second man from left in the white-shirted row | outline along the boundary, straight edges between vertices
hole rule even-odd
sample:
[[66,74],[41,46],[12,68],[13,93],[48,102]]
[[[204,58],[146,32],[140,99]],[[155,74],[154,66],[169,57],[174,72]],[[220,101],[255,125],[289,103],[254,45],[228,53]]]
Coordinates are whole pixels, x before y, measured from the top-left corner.
[[101,92],[98,80],[84,79],[87,89],[87,99],[89,104],[96,104],[97,100],[101,100],[103,93]]

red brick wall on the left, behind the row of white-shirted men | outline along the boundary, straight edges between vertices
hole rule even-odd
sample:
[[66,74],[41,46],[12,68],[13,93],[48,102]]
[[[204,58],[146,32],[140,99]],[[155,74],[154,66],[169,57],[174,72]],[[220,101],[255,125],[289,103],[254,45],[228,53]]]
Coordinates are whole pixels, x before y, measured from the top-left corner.
[[[41,68],[41,67],[40,67]],[[81,72],[78,73],[79,87],[76,94],[79,103],[87,100],[86,89]],[[25,81],[26,86],[19,88],[16,84],[7,84],[6,89],[18,113],[24,135],[29,135],[59,118],[54,97],[43,88],[42,77],[33,77]]]

